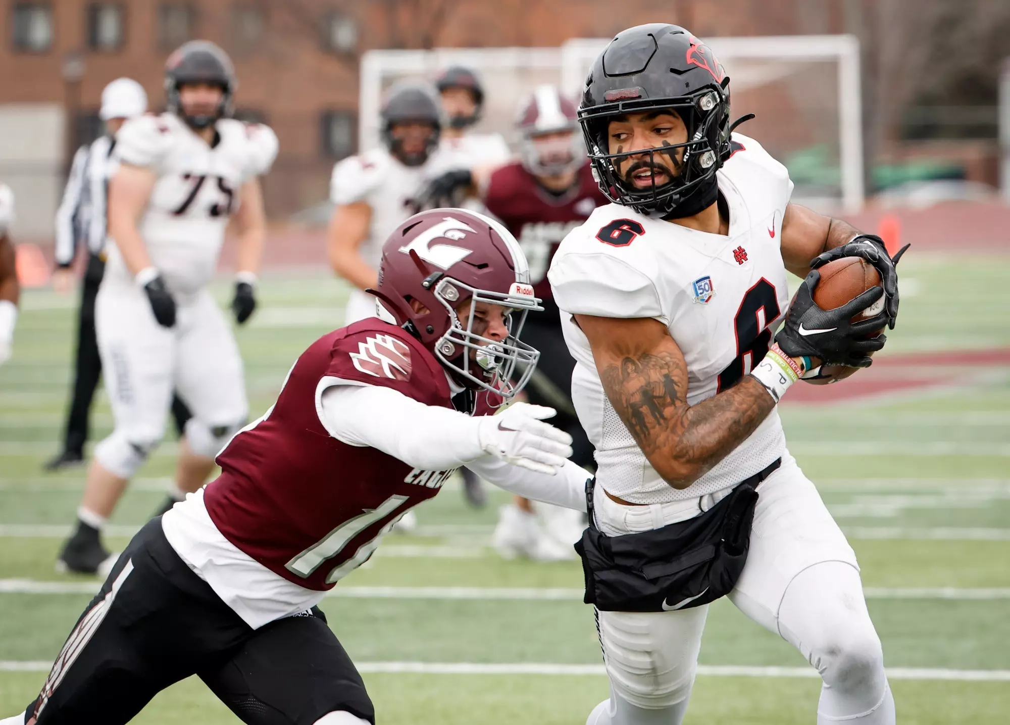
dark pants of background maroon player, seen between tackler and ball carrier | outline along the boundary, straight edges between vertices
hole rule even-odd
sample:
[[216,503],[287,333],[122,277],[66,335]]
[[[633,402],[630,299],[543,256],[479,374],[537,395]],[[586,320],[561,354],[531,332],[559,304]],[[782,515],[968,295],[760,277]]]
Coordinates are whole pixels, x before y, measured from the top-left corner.
[[572,436],[572,460],[583,468],[595,469],[593,444],[589,442],[572,404],[575,359],[565,343],[561,321],[548,313],[530,313],[520,339],[540,351],[536,371],[525,388],[529,402],[558,411],[558,415],[547,422]]

